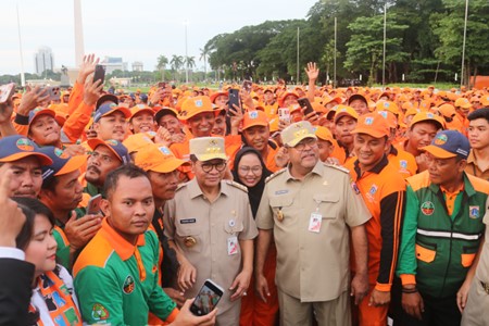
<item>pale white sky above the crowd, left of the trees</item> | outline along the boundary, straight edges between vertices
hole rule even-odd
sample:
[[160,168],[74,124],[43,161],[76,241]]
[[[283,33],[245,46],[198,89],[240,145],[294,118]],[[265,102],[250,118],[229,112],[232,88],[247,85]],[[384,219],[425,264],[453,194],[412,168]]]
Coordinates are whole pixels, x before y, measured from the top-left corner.
[[[103,59],[122,57],[141,61],[153,71],[163,54],[188,55],[203,71],[199,49],[212,37],[265,21],[305,18],[318,0],[82,0],[85,53]],[[34,55],[40,47],[54,54],[54,68],[75,66],[73,0],[1,0],[0,75],[21,72],[20,32],[24,71],[34,73]]]

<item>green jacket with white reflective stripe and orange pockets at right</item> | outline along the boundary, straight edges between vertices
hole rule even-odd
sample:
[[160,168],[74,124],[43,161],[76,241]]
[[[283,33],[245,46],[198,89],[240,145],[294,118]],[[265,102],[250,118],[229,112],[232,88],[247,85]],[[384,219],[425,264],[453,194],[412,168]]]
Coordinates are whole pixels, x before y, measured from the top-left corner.
[[397,273],[435,298],[454,296],[480,244],[489,183],[464,173],[464,188],[447,210],[446,195],[428,172],[408,178],[406,210]]

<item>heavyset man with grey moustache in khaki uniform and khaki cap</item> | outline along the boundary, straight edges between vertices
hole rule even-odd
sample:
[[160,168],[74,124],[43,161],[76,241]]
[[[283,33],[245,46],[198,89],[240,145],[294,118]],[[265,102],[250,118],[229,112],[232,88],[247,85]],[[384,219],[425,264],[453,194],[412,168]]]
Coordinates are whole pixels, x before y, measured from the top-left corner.
[[350,294],[358,304],[368,290],[364,224],[371,214],[348,171],[318,160],[309,122],[290,125],[281,138],[290,163],[268,178],[256,213],[256,289],[266,300],[263,264],[274,236],[281,325],[312,325],[314,311],[319,326],[348,326],[349,230],[358,266]]

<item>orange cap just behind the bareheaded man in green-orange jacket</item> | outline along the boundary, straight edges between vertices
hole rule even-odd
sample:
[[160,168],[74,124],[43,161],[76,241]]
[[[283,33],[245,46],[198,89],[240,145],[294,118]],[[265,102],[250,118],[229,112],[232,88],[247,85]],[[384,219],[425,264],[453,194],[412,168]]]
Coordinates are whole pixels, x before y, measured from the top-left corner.
[[147,145],[141,148],[135,158],[135,164],[145,171],[170,173],[180,167],[186,162],[175,158],[167,147]]

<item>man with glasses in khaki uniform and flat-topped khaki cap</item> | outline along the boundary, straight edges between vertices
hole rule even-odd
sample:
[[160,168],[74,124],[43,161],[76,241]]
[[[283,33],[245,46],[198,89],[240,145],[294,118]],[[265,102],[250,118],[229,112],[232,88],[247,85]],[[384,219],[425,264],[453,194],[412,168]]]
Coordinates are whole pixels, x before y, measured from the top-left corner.
[[190,139],[196,177],[165,204],[163,224],[180,264],[178,284],[193,298],[206,278],[225,289],[217,304],[217,325],[238,325],[241,296],[253,269],[254,224],[246,188],[223,180],[224,138]]

